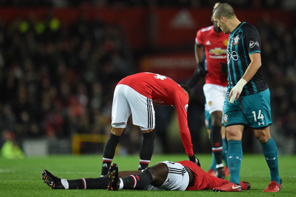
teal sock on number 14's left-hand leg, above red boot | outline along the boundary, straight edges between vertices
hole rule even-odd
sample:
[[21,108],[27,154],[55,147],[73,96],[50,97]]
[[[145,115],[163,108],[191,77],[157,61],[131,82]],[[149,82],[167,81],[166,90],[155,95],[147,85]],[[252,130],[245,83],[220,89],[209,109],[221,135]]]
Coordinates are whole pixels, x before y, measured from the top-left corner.
[[241,161],[243,158],[243,150],[241,140],[228,141],[228,168],[230,173],[229,181],[235,184],[240,184]]

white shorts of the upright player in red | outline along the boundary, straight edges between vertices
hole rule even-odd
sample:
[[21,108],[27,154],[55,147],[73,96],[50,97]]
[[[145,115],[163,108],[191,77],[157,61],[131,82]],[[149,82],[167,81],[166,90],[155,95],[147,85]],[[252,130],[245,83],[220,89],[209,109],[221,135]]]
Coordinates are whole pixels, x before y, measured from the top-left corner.
[[223,112],[226,93],[227,87],[210,83],[204,84],[204,96],[206,98],[205,108],[210,114],[214,111]]

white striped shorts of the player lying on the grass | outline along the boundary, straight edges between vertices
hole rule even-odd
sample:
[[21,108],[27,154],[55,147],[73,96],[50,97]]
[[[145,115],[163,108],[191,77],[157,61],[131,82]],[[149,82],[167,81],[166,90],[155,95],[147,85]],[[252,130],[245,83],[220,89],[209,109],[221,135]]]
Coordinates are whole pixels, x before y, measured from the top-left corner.
[[189,184],[189,174],[187,169],[182,164],[171,161],[163,161],[159,163],[167,164],[167,167],[169,168],[167,179],[164,181],[161,187],[149,185],[147,190],[185,191]]

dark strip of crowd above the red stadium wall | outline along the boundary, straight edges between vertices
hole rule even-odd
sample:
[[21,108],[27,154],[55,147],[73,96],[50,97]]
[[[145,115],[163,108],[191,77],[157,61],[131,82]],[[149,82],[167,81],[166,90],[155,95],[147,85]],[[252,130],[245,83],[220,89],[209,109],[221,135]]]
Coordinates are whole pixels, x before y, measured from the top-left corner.
[[[217,0],[0,0],[1,6],[112,6],[112,7],[212,7]],[[296,4],[290,0],[224,0],[237,8],[295,8]]]

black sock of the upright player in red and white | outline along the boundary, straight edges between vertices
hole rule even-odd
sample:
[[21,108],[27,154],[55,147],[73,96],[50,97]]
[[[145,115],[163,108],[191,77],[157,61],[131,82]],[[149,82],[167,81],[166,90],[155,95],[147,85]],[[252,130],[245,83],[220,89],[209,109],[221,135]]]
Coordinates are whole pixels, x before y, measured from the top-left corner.
[[211,127],[211,145],[212,151],[215,155],[216,159],[216,168],[223,167],[222,164],[222,136],[221,136],[221,127],[220,126],[212,126]]

